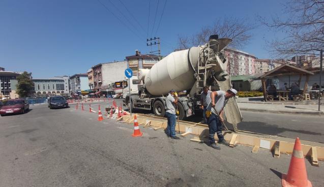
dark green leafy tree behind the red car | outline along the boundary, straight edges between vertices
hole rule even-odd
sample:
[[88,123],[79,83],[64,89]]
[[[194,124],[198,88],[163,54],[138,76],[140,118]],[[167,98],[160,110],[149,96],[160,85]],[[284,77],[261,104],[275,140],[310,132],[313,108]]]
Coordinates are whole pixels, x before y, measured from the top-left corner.
[[27,72],[17,76],[17,94],[20,98],[28,97],[34,91],[34,82],[31,78],[32,73]]

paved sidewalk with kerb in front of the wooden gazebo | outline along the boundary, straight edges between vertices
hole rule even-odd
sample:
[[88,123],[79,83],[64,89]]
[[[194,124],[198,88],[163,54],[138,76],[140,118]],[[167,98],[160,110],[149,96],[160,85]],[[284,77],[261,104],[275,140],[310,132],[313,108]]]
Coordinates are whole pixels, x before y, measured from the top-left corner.
[[[324,106],[320,106],[318,111],[318,103],[311,104],[308,102],[262,102],[260,98],[238,98],[238,106],[242,111],[254,112],[270,112],[279,114],[305,114],[305,115],[323,115]],[[252,101],[251,101],[252,100]],[[259,101],[257,101],[259,100]],[[321,102],[324,103],[323,100]]]

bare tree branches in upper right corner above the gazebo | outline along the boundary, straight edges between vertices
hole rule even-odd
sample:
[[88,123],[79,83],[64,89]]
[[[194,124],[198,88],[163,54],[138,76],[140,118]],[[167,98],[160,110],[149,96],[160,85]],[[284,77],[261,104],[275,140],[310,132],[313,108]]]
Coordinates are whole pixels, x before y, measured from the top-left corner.
[[290,0],[285,6],[287,19],[273,18],[261,22],[287,34],[284,39],[268,42],[277,56],[318,54],[324,48],[324,1]]

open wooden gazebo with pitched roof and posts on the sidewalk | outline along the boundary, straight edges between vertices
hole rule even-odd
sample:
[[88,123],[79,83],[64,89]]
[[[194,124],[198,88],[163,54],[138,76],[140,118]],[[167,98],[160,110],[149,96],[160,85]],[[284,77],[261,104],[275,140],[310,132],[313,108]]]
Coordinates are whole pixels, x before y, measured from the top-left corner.
[[273,69],[272,71],[269,71],[265,73],[264,75],[260,76],[261,82],[262,82],[262,88],[263,88],[263,97],[264,101],[267,101],[267,87],[266,87],[266,78],[267,77],[274,77],[278,75],[291,75],[291,74],[299,74],[299,80],[298,85],[300,85],[302,76],[306,76],[306,81],[303,89],[303,96],[305,95],[305,92],[307,90],[309,75],[314,75],[314,73],[304,70],[302,68],[298,68],[296,66],[291,66],[288,64],[279,66],[278,68]]

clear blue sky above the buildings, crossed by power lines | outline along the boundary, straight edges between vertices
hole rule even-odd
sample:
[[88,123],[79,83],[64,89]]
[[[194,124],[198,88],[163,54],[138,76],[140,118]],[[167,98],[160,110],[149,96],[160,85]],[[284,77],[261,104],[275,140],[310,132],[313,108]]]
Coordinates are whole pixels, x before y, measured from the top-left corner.
[[[1,0],[0,67],[8,71],[28,71],[34,78],[86,73],[100,62],[123,60],[135,49],[146,53],[149,1],[121,0],[140,22],[138,24],[119,0]],[[151,1],[149,36],[158,0]],[[153,36],[165,0],[159,0]],[[167,1],[157,35],[162,39],[162,54],[177,46],[178,35],[192,35],[218,17],[244,17],[259,25],[256,15],[267,18],[282,15],[282,1]],[[125,24],[128,25],[125,26]],[[140,26],[141,25],[141,26]],[[131,31],[131,30],[133,31]],[[134,34],[136,33],[136,35]],[[270,58],[264,38],[275,34],[264,26],[252,30],[253,38],[241,50],[258,58]]]

